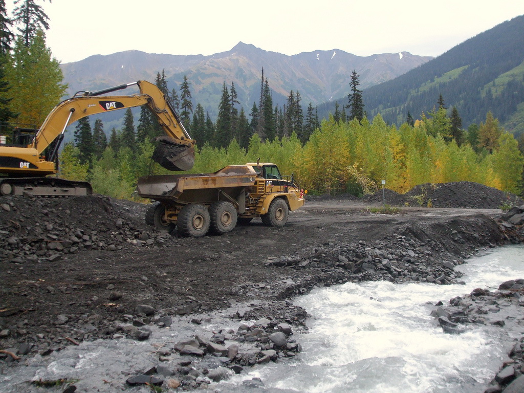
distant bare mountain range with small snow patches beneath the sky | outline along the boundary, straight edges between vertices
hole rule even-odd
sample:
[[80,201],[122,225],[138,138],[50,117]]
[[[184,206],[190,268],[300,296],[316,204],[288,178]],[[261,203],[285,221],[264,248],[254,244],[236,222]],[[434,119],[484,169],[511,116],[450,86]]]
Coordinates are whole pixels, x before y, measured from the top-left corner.
[[359,73],[361,88],[366,88],[394,79],[431,59],[409,52],[360,57],[340,49],[287,56],[239,42],[231,50],[211,56],[179,56],[129,50],[64,63],[61,69],[64,82],[69,84],[70,95],[77,91],[95,91],[136,80],[154,82],[157,73],[162,71],[169,91],[173,88],[178,91],[184,75],[187,75],[191,83],[193,106],[200,103],[215,118],[224,82],[228,89],[234,83],[238,101],[246,113],[249,113],[253,103],[258,105],[262,69],[275,105],[284,104],[293,90],[300,93],[305,107],[309,103],[316,106],[333,97],[347,95],[353,70]]

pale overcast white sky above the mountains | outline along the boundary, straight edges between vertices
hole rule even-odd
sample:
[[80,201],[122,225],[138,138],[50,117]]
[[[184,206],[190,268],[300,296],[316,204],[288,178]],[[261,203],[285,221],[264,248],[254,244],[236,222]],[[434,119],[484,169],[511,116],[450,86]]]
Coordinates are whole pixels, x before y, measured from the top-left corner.
[[[6,6],[13,7],[12,0]],[[291,56],[339,49],[357,56],[439,56],[506,20],[522,0],[36,0],[47,46],[62,63],[126,50],[204,54],[239,41]],[[523,32],[524,34],[524,32]]]

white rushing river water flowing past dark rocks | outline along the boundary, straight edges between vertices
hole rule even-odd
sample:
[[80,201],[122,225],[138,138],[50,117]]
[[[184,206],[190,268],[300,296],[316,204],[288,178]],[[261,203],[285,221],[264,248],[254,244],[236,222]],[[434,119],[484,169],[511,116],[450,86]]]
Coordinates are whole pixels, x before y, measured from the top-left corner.
[[[230,380],[212,384],[211,391],[482,392],[524,326],[472,325],[465,333],[445,334],[430,312],[438,300],[446,303],[474,288],[493,288],[506,280],[524,278],[524,247],[497,248],[456,269],[464,273],[466,285],[379,281],[315,289],[294,302],[311,315],[309,331],[294,334],[302,353],[246,369]],[[216,314],[199,329],[209,332],[227,326],[236,330],[238,323],[227,314]],[[180,319],[169,330],[154,330],[148,342],[97,341],[70,346],[48,357],[36,356],[0,373],[0,391],[42,391],[27,383],[35,378],[79,379],[78,391],[121,390],[127,378],[123,370],[132,373],[158,362],[151,356],[153,343],[171,345],[190,337],[194,329],[188,319]],[[265,387],[246,385],[252,378],[260,378]]]

